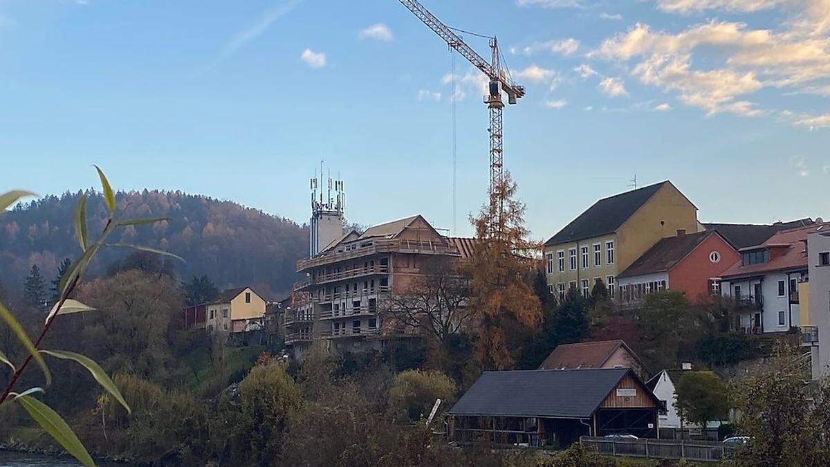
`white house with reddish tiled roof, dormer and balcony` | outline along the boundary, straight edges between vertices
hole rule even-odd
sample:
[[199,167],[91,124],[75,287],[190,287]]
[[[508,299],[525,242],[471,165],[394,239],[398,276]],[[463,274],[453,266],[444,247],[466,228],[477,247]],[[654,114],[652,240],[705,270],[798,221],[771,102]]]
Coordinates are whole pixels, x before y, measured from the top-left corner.
[[740,248],[740,260],[720,277],[720,292],[740,309],[746,332],[787,332],[802,325],[799,283],[807,282],[807,236],[830,223],[782,230],[764,243]]

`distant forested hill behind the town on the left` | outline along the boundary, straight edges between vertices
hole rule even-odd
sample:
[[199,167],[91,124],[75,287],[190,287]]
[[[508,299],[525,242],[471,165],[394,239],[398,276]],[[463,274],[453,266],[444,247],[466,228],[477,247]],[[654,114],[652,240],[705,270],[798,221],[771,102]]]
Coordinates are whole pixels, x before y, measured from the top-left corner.
[[[81,249],[74,238],[72,214],[83,192],[46,196],[0,214],[0,280],[7,289],[21,287],[31,265],[37,264],[47,281],[54,278],[62,258],[76,258]],[[103,197],[90,193],[89,232],[104,228]],[[275,297],[288,292],[295,281],[295,262],[308,251],[308,228],[231,201],[220,201],[180,191],[144,190],[116,194],[122,218],[168,217],[154,225],[129,226],[111,238],[113,243],[139,243],[176,253],[183,280],[207,274],[219,288],[254,286]],[[107,248],[90,266],[103,274],[127,248]]]

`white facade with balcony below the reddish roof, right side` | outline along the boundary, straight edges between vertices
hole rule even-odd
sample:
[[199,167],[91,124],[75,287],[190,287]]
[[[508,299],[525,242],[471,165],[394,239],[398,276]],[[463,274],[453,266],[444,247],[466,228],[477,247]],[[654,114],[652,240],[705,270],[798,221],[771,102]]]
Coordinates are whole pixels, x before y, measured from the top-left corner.
[[800,323],[798,283],[806,277],[805,271],[760,273],[752,278],[724,280],[720,292],[745,307],[740,313],[740,327],[745,330],[787,332]]

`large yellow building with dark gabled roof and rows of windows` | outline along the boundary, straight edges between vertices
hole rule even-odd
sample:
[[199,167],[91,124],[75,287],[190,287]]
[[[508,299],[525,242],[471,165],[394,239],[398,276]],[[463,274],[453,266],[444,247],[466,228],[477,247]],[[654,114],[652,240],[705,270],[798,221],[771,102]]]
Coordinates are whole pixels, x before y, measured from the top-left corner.
[[544,243],[549,288],[587,295],[601,279],[613,296],[618,273],[678,230],[702,227],[695,205],[668,180],[600,199]]

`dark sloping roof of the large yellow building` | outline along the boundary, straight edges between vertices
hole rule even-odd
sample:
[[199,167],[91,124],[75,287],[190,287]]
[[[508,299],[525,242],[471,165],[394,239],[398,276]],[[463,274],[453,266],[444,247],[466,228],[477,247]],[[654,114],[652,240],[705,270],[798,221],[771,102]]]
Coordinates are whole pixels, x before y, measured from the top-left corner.
[[658,184],[617,194],[610,198],[600,199],[588,210],[579,214],[579,217],[572,220],[564,229],[559,230],[559,233],[551,237],[544,245],[576,242],[585,238],[616,232],[637,209],[640,209],[640,206],[646,204],[646,201],[651,199],[657,193],[657,190],[667,183],[671,182],[666,180]]

